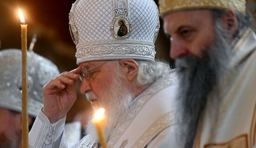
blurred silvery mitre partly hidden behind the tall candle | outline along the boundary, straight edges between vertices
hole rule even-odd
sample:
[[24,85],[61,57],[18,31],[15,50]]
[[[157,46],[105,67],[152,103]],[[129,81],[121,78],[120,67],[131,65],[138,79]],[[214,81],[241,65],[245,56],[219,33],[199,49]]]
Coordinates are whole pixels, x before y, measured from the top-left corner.
[[[27,52],[28,114],[36,117],[43,106],[44,85],[60,72],[48,59]],[[21,113],[21,50],[0,51],[0,108]]]

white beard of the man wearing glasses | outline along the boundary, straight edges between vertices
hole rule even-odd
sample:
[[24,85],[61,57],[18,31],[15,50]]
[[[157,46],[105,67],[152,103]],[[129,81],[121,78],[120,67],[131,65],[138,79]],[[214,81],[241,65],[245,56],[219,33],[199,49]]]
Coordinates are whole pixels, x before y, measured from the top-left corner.
[[[122,76],[116,76],[115,81],[108,87],[104,98],[98,98],[93,92],[86,93],[86,97],[97,99],[100,102],[98,108],[105,108],[106,126],[104,128],[104,135],[106,140],[110,137],[111,132],[116,125],[122,121],[126,116],[127,110],[133,99],[133,95],[128,91],[127,86],[123,83]],[[92,135],[96,141],[98,138],[97,132],[90,117],[86,128],[86,134]]]

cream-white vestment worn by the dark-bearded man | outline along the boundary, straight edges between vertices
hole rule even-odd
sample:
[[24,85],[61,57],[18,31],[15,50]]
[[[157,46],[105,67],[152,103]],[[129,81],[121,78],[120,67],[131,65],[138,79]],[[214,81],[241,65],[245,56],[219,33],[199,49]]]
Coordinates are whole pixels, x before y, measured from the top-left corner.
[[194,148],[253,148],[256,145],[255,33],[244,30],[234,50],[229,72],[222,81],[217,118],[213,120],[215,117],[210,112],[204,114]]

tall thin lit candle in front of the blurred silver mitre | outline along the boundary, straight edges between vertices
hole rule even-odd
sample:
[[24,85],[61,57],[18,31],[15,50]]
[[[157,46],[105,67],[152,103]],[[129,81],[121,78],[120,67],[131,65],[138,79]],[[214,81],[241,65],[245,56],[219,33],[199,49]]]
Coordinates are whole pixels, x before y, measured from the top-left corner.
[[28,114],[27,114],[27,25],[19,9],[21,21],[21,56],[22,56],[22,148],[28,148]]

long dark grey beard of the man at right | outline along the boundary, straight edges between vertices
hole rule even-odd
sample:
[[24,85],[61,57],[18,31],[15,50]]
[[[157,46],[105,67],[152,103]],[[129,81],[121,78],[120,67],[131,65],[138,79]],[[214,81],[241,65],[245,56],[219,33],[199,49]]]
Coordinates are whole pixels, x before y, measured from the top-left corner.
[[216,22],[216,41],[204,50],[206,52],[202,58],[186,56],[177,59],[175,63],[182,108],[180,139],[185,148],[193,147],[198,123],[206,111],[207,104],[210,101],[215,102],[212,108],[218,110],[220,98],[215,96],[215,100],[209,100],[209,94],[213,92],[225,71],[232,48],[226,36],[223,36],[225,33],[219,24]]

